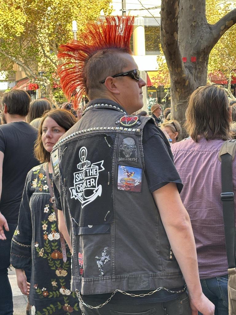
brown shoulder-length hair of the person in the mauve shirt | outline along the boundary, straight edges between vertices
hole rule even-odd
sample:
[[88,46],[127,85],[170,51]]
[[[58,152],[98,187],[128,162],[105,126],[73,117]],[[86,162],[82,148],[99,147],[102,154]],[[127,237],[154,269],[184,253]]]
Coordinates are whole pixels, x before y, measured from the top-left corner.
[[223,88],[206,85],[190,95],[184,127],[195,142],[201,136],[206,140],[231,139],[230,122],[229,100]]

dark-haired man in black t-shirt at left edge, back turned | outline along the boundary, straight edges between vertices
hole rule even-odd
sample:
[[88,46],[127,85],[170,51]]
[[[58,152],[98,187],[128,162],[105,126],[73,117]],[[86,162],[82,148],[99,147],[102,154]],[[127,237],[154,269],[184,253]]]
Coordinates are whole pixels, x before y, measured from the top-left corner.
[[12,290],[7,269],[10,266],[11,239],[17,226],[26,175],[32,167],[38,165],[33,154],[38,131],[25,122],[30,101],[30,96],[23,90],[13,89],[3,95],[3,117],[7,123],[0,126],[0,310],[2,315],[13,314]]

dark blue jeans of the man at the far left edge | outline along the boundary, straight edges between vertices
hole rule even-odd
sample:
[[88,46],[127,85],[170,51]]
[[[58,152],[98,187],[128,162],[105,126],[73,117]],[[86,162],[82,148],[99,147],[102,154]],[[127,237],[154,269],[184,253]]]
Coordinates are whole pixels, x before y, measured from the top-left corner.
[[0,240],[0,315],[13,314],[12,290],[8,279],[10,266],[11,240],[17,224],[8,223],[9,232],[4,231],[6,240]]

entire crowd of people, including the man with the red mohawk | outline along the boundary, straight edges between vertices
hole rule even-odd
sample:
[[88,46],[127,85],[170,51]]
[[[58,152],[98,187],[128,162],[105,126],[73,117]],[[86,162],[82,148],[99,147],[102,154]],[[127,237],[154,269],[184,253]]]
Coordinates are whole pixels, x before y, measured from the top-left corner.
[[10,262],[31,315],[234,314],[218,155],[235,105],[222,86],[196,89],[182,141],[170,108],[164,121],[160,104],[140,112],[133,22],[107,17],[61,46],[73,113],[22,90],[3,96],[1,315],[13,314]]

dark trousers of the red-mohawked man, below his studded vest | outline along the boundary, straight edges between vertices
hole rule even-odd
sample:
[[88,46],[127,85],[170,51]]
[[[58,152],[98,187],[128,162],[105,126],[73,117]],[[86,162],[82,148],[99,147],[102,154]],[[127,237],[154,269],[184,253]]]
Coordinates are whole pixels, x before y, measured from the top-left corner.
[[[96,306],[104,303],[98,299],[86,299],[83,295],[83,300],[86,304]],[[191,315],[189,298],[187,292],[181,293],[176,299],[167,302],[150,302],[140,298],[132,298],[127,301],[110,301],[105,306],[99,309],[90,309],[82,306],[80,303],[82,314],[84,315]]]

